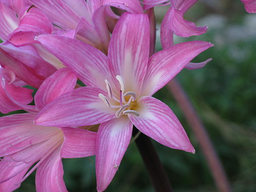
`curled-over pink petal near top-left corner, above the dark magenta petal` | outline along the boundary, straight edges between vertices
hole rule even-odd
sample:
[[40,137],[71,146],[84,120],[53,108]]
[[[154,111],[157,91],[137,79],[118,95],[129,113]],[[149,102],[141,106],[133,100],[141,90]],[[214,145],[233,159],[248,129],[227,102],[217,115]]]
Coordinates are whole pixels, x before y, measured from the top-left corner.
[[15,45],[23,45],[34,43],[34,37],[39,34],[48,34],[53,30],[53,25],[39,9],[32,7],[25,12],[19,23],[19,27],[15,29],[10,37],[10,41]]

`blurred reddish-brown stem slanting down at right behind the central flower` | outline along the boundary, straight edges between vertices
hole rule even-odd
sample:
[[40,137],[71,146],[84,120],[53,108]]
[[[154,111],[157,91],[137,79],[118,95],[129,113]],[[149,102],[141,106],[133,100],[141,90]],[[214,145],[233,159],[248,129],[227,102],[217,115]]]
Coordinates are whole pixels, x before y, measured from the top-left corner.
[[167,84],[167,87],[170,89],[170,91],[172,91],[175,100],[178,102],[178,105],[180,106],[189,125],[197,137],[199,145],[211,170],[212,176],[215,179],[217,188],[221,192],[231,192],[231,186],[225,174],[222,163],[218,158],[214,146],[212,145],[211,140],[183,87],[176,79],[170,81]]

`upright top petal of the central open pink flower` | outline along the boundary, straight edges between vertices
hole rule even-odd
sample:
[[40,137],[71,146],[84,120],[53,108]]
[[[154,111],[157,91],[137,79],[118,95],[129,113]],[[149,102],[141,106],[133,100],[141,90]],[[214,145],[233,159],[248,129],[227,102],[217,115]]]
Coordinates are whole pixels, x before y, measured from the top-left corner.
[[140,92],[149,57],[149,20],[146,14],[124,13],[113,31],[108,57],[113,82],[124,79],[125,91]]

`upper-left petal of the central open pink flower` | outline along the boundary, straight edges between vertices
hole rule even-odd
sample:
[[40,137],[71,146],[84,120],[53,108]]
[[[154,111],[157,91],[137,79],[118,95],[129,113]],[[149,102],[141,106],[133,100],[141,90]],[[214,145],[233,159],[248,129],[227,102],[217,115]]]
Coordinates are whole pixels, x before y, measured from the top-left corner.
[[107,57],[101,51],[84,42],[57,35],[40,35],[37,40],[69,67],[84,84],[106,89],[108,63]]

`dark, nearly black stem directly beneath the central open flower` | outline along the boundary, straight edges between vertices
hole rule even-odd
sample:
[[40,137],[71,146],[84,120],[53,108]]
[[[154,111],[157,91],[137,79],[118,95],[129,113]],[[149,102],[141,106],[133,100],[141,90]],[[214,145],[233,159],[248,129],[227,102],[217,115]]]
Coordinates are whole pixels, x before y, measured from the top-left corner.
[[[138,129],[134,126],[133,135],[138,133]],[[169,179],[163,169],[160,159],[150,138],[141,133],[135,140],[142,159],[146,165],[149,177],[156,192],[171,192],[173,191]]]

